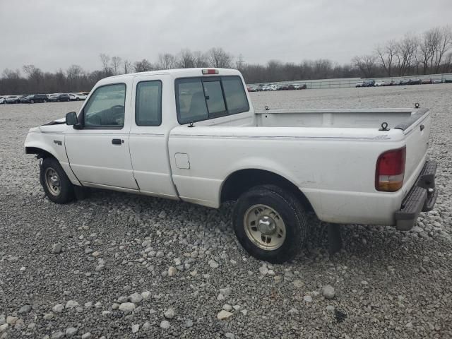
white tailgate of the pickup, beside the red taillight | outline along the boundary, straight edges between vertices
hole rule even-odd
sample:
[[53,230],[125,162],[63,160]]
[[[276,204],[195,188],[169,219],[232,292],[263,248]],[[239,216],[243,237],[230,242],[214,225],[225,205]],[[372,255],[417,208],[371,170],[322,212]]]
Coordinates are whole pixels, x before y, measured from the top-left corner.
[[396,129],[403,130],[406,141],[404,195],[408,193],[413,180],[417,178],[424,166],[431,122],[429,109],[416,109],[408,121],[396,126]]

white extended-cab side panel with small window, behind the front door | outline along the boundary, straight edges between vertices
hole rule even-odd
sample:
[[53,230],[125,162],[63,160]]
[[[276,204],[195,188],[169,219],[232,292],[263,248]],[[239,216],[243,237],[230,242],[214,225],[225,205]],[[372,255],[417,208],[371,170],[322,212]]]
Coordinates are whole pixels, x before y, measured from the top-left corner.
[[[163,112],[162,102],[174,103],[172,79],[162,75],[136,76],[133,80],[130,153],[139,189],[144,194],[177,198],[168,158],[168,133],[174,118]],[[168,109],[169,105],[165,105]],[[167,117],[167,119],[165,119]],[[174,116],[173,116],[174,117]]]

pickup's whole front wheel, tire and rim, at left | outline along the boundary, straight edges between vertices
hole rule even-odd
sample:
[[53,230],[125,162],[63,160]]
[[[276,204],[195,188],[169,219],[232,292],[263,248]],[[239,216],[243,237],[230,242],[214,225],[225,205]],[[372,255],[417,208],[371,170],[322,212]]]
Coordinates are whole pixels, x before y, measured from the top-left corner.
[[73,185],[54,157],[42,160],[40,182],[47,198],[54,203],[69,203],[73,200]]

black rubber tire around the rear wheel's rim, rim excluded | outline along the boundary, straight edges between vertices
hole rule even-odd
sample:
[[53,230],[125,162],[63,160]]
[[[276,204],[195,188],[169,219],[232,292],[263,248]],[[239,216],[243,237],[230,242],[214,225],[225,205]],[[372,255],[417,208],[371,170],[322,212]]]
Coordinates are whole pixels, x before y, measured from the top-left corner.
[[[272,208],[285,224],[285,239],[276,249],[262,249],[246,233],[245,215],[256,205]],[[255,186],[242,194],[234,206],[232,222],[244,249],[251,256],[270,263],[283,263],[295,258],[304,246],[309,230],[302,204],[289,191],[274,185]]]

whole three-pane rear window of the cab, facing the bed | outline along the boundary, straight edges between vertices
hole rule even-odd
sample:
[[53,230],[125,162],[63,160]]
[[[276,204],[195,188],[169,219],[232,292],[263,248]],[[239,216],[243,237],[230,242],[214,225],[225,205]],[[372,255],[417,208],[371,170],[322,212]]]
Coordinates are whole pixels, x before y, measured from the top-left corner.
[[179,124],[249,111],[239,76],[179,78],[175,81]]

